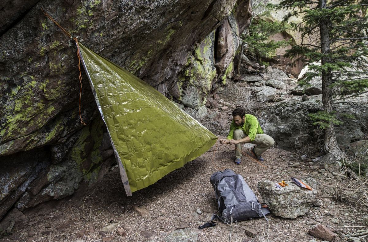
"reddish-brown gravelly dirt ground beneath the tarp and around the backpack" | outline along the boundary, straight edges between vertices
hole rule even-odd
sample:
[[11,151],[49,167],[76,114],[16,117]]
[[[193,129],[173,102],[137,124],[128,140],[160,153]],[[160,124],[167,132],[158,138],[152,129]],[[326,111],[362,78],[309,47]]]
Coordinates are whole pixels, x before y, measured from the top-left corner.
[[[247,151],[246,148],[243,150]],[[301,161],[300,155],[277,147],[270,148],[263,156],[265,161],[262,164],[268,166],[267,169],[249,158],[243,158],[243,164],[236,165],[230,145],[217,142],[209,152],[155,184],[134,192],[131,197],[125,196],[115,166],[93,193],[45,204],[27,212],[26,223],[15,226],[14,233],[2,240],[229,241],[231,229],[230,241],[233,242],[321,241],[309,235],[308,230],[322,224],[332,227],[339,235],[335,241],[345,241],[345,234],[367,229],[362,221],[367,208],[333,200],[331,196],[335,186],[322,167]],[[258,218],[238,222],[232,227],[219,222],[216,227],[198,230],[198,226],[208,222],[217,210],[210,175],[226,168],[241,174],[260,201],[262,197],[257,189],[259,180],[279,182],[289,181],[293,176],[312,176],[317,180],[321,206],[312,207],[306,215],[296,219],[268,215],[269,225],[264,218]],[[140,211],[135,206],[146,210]],[[102,232],[107,225],[112,225],[112,232]],[[245,229],[254,229],[255,238],[246,235]],[[178,236],[183,231],[190,234],[186,240]]]

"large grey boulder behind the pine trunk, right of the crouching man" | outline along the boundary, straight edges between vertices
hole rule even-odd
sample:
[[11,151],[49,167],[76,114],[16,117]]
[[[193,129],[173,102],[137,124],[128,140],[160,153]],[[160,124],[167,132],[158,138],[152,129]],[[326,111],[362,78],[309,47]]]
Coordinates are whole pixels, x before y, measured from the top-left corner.
[[[308,113],[322,110],[321,98],[322,95],[314,95],[302,101],[301,97],[294,97],[268,106],[263,112],[265,124],[262,124],[262,127],[265,133],[272,136],[279,147],[286,150],[300,149],[308,144],[319,142],[322,132],[312,124]],[[354,106],[343,103],[335,106],[337,113],[342,114],[344,122],[335,127],[337,142],[342,149],[348,147],[351,142],[361,140],[367,132],[367,97],[349,101],[359,104],[360,107],[354,108]]]

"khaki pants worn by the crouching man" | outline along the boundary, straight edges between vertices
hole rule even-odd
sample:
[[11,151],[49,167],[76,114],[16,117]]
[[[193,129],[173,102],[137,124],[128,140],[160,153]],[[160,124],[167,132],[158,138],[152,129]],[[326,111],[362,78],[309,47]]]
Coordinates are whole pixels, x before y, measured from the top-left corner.
[[[240,140],[245,137],[246,137],[246,134],[244,134],[244,131],[242,129],[234,130],[234,135],[233,135],[234,140]],[[256,155],[261,155],[268,148],[270,148],[273,144],[275,144],[275,141],[273,140],[271,136],[267,134],[256,134],[255,139],[248,143],[258,144],[256,147],[254,147],[254,151]],[[235,158],[240,158],[241,157],[241,143],[236,144],[235,147],[236,147]]]

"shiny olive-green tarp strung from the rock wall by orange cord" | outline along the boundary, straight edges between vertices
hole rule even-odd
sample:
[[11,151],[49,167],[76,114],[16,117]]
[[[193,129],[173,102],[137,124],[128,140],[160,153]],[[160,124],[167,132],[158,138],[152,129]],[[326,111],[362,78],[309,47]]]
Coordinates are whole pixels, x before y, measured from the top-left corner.
[[79,43],[128,196],[206,152],[217,137],[138,77]]

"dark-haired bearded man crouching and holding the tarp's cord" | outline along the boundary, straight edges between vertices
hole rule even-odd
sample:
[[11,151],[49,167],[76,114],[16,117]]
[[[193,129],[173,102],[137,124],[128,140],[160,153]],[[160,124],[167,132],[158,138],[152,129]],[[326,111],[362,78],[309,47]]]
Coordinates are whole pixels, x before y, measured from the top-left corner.
[[241,164],[241,144],[251,143],[257,144],[253,147],[252,155],[259,161],[264,161],[261,154],[270,148],[275,141],[267,134],[263,133],[258,119],[251,115],[245,114],[243,108],[236,108],[233,111],[233,122],[230,124],[230,132],[226,139],[220,139],[221,144],[235,144],[235,164]]

